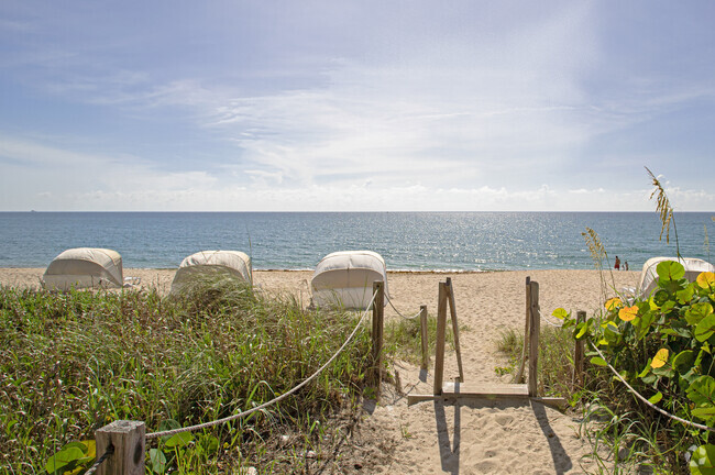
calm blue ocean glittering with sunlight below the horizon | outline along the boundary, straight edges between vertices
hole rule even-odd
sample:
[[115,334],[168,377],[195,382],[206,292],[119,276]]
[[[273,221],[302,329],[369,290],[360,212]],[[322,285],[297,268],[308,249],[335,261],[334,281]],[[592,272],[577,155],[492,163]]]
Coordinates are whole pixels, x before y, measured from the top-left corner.
[[[713,213],[675,213],[680,252],[710,258]],[[124,267],[174,268],[202,250],[251,255],[256,269],[312,269],[334,251],[371,250],[391,270],[594,268],[598,233],[631,270],[675,255],[656,212],[0,212],[0,267],[45,267],[69,247],[108,247]],[[714,250],[715,253],[715,250]]]

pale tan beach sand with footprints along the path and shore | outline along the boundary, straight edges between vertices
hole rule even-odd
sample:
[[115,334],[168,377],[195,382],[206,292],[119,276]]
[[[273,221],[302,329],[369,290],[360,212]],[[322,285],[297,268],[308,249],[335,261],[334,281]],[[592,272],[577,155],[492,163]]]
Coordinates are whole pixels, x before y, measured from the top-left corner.
[[[0,285],[36,287],[44,269],[1,268]],[[142,287],[167,292],[174,269],[124,269],[141,277]],[[603,303],[601,274],[596,270],[519,270],[498,273],[388,273],[394,306],[405,316],[437,312],[438,284],[452,278],[465,384],[508,383],[495,367],[505,360],[496,351],[502,331],[524,329],[525,283],[539,283],[543,320],[553,309],[585,310]],[[612,280],[613,276],[613,280]],[[292,292],[308,305],[310,272],[255,270],[254,280],[265,291]],[[615,288],[635,287],[637,272],[606,273]],[[389,318],[400,318],[389,306]],[[552,320],[553,321],[553,320]],[[433,360],[432,360],[433,365]],[[419,368],[396,362],[405,394],[431,394],[432,368],[420,379]],[[448,352],[444,380],[458,375],[455,355]],[[395,474],[578,474],[595,470],[583,455],[590,444],[579,437],[580,415],[561,413],[539,404],[517,400],[472,400],[459,404],[420,402],[407,406],[407,397],[386,388],[376,406],[366,406],[353,435],[365,459],[356,473]],[[381,464],[370,463],[380,460]],[[365,472],[367,471],[367,472]]]

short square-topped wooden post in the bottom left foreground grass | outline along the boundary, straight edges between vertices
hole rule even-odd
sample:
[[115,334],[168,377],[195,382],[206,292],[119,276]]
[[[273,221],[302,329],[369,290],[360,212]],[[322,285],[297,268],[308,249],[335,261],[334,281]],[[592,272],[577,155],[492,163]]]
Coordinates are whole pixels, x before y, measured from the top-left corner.
[[112,445],[111,454],[97,470],[99,475],[142,475],[144,473],[144,422],[118,420],[95,432],[97,459]]

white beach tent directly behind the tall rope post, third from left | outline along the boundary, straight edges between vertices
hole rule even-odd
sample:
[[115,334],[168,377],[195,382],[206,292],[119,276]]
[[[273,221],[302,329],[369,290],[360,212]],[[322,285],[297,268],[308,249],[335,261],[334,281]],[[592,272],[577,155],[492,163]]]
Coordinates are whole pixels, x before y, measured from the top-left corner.
[[387,268],[380,254],[372,251],[328,254],[318,263],[310,280],[314,303],[365,310],[372,300],[375,280],[385,283],[387,303]]

